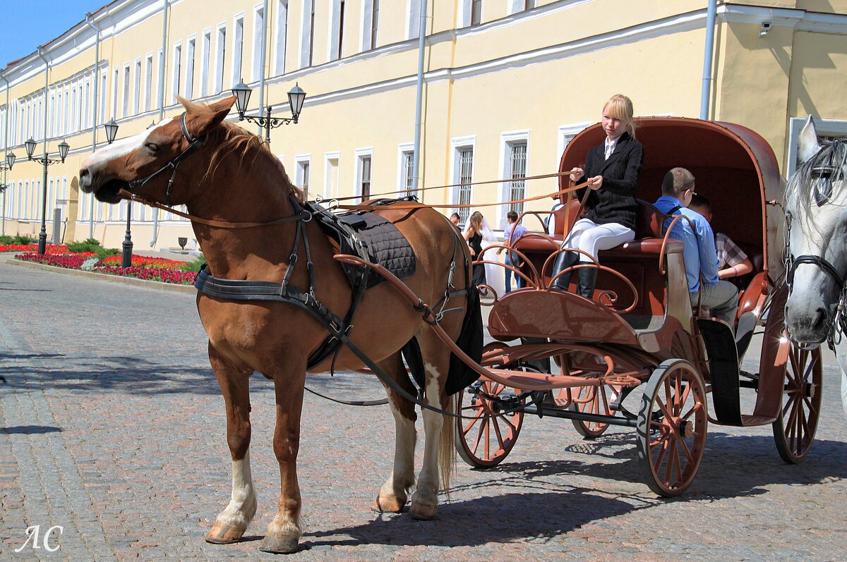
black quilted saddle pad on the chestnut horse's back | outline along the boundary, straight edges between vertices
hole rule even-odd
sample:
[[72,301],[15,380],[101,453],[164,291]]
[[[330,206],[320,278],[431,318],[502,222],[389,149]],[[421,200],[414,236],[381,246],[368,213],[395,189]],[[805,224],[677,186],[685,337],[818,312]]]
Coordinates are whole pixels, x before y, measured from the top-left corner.
[[[357,211],[337,215],[340,223],[352,229],[349,240],[340,240],[342,249],[345,242],[351,249],[361,248],[367,251],[368,260],[385,267],[397,278],[410,278],[415,273],[415,255],[412,246],[394,224],[374,212]],[[361,251],[355,251],[363,256]],[[349,264],[345,264],[347,266]],[[356,267],[356,266],[350,266]],[[378,273],[368,274],[368,289],[385,281]]]

